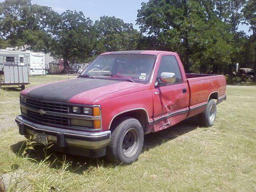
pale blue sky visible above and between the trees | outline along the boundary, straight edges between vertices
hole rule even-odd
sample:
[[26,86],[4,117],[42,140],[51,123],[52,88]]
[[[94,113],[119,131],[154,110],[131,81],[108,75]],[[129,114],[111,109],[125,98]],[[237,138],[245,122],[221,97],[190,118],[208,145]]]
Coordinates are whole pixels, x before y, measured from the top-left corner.
[[[3,1],[0,0],[0,2]],[[93,21],[104,15],[115,16],[126,23],[133,23],[136,29],[138,29],[135,21],[137,10],[140,9],[142,2],[148,2],[148,0],[32,0],[33,4],[50,6],[58,13],[68,9],[82,11]],[[249,26],[246,25],[240,24],[238,30],[244,30],[248,35],[252,34],[248,32]]]

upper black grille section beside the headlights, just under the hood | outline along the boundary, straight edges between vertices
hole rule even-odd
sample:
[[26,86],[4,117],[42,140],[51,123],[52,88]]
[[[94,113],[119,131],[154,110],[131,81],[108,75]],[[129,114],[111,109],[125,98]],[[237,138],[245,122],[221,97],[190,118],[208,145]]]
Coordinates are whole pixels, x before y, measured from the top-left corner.
[[26,105],[36,109],[43,109],[45,111],[68,113],[68,105],[51,103],[47,101],[35,100],[27,98]]

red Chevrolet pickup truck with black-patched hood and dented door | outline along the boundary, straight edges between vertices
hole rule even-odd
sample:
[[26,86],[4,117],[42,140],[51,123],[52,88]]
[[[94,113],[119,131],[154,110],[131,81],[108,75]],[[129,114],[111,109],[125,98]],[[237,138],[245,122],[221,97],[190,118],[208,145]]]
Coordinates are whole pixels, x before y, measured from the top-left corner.
[[76,79],[23,90],[16,122],[54,150],[130,164],[144,134],[197,114],[212,126],[225,92],[224,76],[185,74],[174,52],[108,52]]

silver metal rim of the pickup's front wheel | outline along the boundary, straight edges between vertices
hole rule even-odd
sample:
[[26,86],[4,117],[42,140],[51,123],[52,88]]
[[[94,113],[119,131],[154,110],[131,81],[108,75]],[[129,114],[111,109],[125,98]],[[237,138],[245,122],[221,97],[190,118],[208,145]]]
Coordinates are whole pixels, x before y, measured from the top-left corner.
[[122,151],[127,158],[132,157],[138,150],[139,136],[135,128],[130,128],[124,135]]

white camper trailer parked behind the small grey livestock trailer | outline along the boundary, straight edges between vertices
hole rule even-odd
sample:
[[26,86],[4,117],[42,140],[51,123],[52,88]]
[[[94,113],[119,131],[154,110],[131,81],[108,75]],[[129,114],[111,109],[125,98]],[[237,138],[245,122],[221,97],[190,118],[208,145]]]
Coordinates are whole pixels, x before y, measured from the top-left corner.
[[[45,75],[45,58],[42,52],[16,51],[15,48],[6,48],[6,50],[0,50],[0,64],[3,62],[3,57],[6,58],[5,63],[10,62],[21,66],[24,65],[24,57],[26,57],[30,75]],[[14,58],[19,59],[14,60]]]

